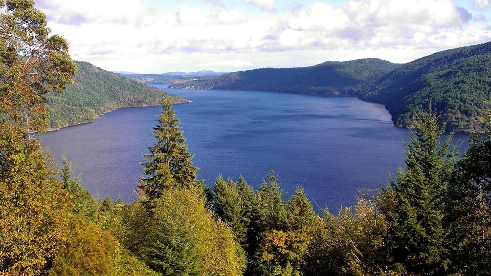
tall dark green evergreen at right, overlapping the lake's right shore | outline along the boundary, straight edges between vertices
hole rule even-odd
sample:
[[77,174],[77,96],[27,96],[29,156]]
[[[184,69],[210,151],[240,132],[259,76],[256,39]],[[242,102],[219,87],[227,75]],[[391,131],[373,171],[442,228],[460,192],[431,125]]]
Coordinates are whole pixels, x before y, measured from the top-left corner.
[[415,120],[416,131],[405,145],[405,170],[384,191],[381,206],[394,261],[410,273],[425,275],[442,273],[449,265],[443,218],[457,151],[449,151],[452,135],[440,145],[444,129],[437,121],[432,112]]

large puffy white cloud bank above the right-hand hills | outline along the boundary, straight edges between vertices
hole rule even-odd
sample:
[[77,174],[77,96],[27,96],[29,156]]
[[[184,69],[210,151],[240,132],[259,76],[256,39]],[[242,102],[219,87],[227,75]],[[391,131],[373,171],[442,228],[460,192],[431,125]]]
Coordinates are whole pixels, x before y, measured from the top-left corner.
[[435,47],[457,44],[450,34],[471,18],[452,0],[362,0],[337,8],[316,2],[272,32],[280,33],[278,50]]

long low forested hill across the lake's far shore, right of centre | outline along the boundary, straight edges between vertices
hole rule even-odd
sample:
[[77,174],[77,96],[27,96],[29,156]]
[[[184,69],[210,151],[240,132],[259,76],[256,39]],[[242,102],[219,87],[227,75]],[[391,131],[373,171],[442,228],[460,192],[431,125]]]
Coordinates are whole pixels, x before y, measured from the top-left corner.
[[364,82],[379,78],[399,66],[377,58],[343,62],[327,61],[310,67],[240,71],[210,79],[173,84],[170,87],[300,94],[354,93]]

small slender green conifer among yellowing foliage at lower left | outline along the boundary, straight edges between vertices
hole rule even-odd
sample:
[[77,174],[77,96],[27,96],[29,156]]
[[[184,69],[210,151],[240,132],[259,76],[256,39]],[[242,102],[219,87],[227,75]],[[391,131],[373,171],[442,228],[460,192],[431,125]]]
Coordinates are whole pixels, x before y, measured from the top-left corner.
[[67,190],[72,196],[73,213],[86,222],[95,223],[99,212],[99,204],[90,193],[80,185],[78,178],[72,178],[72,162],[66,160],[63,156],[63,165],[61,167],[61,183],[63,189]]

